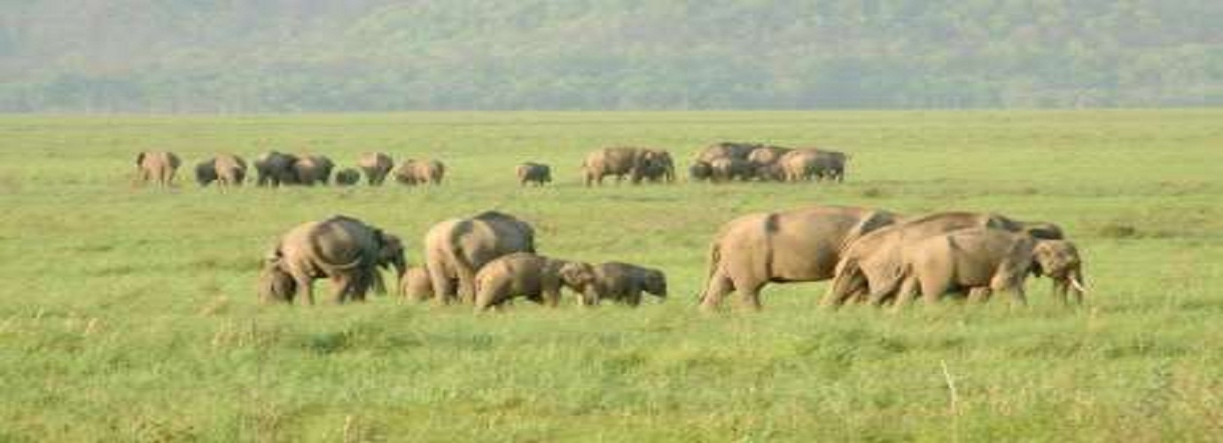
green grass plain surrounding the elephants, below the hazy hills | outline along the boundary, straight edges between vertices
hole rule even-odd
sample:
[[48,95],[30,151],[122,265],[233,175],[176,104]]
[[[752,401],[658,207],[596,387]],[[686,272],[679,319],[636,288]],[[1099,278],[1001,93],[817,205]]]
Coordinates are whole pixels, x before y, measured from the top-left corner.
[[[1223,432],[1223,111],[395,114],[0,117],[0,441],[1212,441]],[[711,142],[854,154],[844,185],[580,186],[596,147],[682,163]],[[439,188],[190,186],[218,151],[433,157]],[[132,188],[170,149],[183,186]],[[556,182],[519,188],[514,166]],[[1060,223],[1090,307],[701,315],[706,247],[806,204]],[[638,310],[473,316],[374,297],[260,306],[275,236],[346,213],[400,234],[499,208],[542,252],[667,270]],[[319,283],[325,288],[325,283]],[[733,303],[731,303],[733,305]],[[958,389],[950,404],[945,363]]]

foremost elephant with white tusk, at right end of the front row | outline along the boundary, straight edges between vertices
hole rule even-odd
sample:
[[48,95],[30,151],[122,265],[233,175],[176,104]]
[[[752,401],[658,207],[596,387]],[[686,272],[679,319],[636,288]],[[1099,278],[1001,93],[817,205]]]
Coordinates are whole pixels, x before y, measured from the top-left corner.
[[[1026,303],[1024,280],[1048,275],[1054,288],[1073,288],[1082,302],[1082,259],[1074,244],[1022,233],[967,228],[905,244],[900,248],[901,285],[895,308],[920,291],[927,303],[953,290],[1009,292]],[[1065,292],[1058,294],[1066,302]]]

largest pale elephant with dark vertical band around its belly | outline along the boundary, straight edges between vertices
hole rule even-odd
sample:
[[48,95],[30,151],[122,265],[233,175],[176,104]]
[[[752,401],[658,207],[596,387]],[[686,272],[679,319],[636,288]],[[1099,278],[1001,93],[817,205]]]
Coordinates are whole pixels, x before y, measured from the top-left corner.
[[737,291],[747,307],[758,310],[759,291],[768,283],[829,279],[846,245],[896,219],[887,210],[839,206],[739,217],[709,245],[701,306],[715,308]]

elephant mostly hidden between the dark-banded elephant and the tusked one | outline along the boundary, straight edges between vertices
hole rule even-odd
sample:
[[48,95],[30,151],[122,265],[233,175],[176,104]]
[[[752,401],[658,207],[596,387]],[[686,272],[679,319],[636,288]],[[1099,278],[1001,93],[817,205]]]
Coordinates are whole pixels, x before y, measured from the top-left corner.
[[965,228],[991,228],[1022,233],[1044,240],[1062,240],[1062,229],[1051,223],[1022,223],[1011,218],[972,212],[942,212],[901,220],[857,239],[841,255],[835,277],[821,305],[835,307],[867,297],[882,302],[900,284],[900,248],[916,240]]

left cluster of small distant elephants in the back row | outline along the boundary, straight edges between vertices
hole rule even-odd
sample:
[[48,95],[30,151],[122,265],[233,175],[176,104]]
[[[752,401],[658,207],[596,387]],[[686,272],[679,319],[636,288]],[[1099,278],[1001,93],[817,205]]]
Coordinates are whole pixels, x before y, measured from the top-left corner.
[[[170,152],[142,152],[136,157],[136,181],[172,186],[180,163],[179,155]],[[352,186],[361,181],[362,175],[369,186],[382,186],[388,176],[408,186],[440,185],[446,173],[442,162],[432,159],[407,159],[396,168],[391,157],[385,153],[363,153],[357,157],[355,168],[335,170],[335,162],[327,155],[295,155],[270,151],[256,157],[253,166],[254,182],[272,187],[330,185],[333,180],[336,186]],[[248,170],[241,157],[221,153],[196,164],[196,182],[202,187],[212,184],[223,187],[241,186],[247,180]]]

